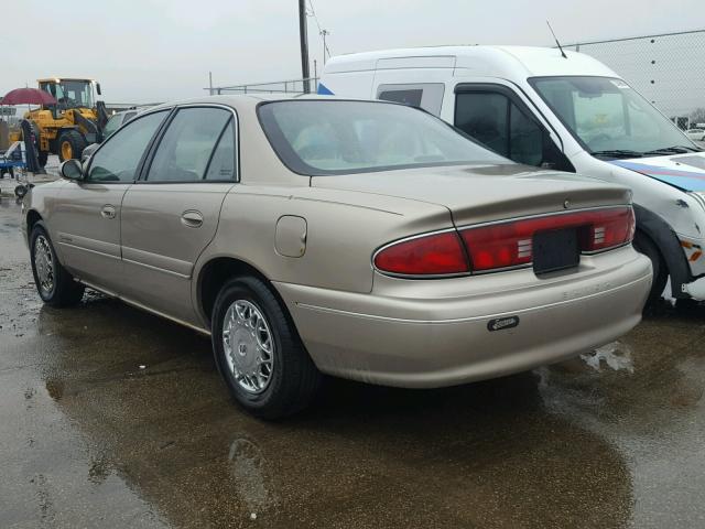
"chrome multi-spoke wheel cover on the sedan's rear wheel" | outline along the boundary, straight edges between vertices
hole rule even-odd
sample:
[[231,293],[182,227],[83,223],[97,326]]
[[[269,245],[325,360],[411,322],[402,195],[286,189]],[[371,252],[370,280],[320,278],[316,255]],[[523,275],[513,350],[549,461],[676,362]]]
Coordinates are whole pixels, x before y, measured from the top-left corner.
[[267,389],[274,368],[274,339],[259,307],[237,300],[225,313],[223,348],[230,373],[249,393]]

